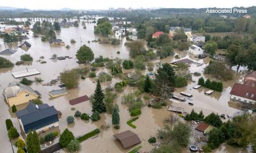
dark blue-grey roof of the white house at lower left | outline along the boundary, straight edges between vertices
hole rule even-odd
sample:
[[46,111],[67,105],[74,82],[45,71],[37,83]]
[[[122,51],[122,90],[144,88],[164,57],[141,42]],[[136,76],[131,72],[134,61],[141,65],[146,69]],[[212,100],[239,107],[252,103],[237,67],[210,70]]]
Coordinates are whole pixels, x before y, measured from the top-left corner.
[[54,106],[49,106],[47,104],[37,106],[38,108],[36,108],[35,104],[30,102],[26,108],[16,112],[16,115],[22,121],[23,126],[58,114]]

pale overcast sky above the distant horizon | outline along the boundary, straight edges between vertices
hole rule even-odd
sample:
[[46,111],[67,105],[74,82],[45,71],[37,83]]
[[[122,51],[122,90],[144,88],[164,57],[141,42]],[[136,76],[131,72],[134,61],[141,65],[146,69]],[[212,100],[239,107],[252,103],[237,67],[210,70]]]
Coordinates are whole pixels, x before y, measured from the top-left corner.
[[108,8],[232,8],[234,6],[253,6],[254,0],[3,0],[0,6],[28,8],[32,10],[58,10],[72,8],[77,10]]

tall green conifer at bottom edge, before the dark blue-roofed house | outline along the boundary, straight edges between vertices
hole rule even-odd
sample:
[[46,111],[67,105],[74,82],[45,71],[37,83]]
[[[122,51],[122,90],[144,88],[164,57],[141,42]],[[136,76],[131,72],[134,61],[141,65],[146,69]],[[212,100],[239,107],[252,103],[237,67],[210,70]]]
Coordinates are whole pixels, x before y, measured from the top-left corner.
[[27,150],[29,153],[37,153],[37,152],[40,152],[41,150],[39,138],[36,131],[33,131],[33,132],[29,131],[28,133]]

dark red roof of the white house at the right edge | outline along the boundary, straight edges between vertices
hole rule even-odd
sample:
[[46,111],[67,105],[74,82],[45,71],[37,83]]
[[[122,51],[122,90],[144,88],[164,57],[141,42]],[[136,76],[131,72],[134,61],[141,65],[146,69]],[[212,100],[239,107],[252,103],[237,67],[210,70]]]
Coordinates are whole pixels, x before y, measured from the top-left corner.
[[[246,95],[246,93],[248,93]],[[232,90],[230,91],[230,94],[243,97],[243,98],[248,98],[252,100],[256,100],[256,87],[251,87],[249,85],[244,85],[244,84],[234,84],[232,87]]]

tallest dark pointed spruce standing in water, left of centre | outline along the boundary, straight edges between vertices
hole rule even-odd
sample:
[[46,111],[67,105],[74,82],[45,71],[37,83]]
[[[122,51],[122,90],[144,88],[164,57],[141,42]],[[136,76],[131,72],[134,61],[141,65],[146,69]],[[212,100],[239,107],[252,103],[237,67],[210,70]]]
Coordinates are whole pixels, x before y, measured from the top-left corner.
[[106,104],[104,103],[104,93],[102,92],[100,81],[97,81],[97,86],[95,89],[95,92],[93,94],[93,100],[92,100],[92,112],[106,112]]

